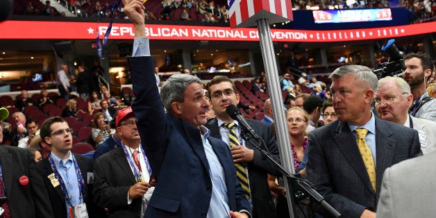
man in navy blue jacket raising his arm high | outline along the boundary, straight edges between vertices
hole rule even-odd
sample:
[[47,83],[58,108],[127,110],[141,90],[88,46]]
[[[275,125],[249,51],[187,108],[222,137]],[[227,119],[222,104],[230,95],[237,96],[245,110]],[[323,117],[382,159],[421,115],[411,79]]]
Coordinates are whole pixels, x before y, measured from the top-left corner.
[[144,37],[145,8],[140,0],[123,3],[135,26],[135,57],[128,58],[136,96],[132,108],[156,178],[144,217],[250,217],[230,151],[203,126],[209,103],[201,81],[175,74],[162,85],[161,99]]

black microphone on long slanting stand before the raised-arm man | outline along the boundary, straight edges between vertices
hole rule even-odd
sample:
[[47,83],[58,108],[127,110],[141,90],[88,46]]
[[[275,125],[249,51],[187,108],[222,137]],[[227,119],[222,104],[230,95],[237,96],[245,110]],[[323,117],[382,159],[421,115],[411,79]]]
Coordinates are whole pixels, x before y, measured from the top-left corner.
[[[277,160],[275,160],[269,154],[268,151],[265,151],[260,146],[256,145],[254,142],[251,142],[251,140],[250,140],[250,138],[253,138],[256,141],[260,142],[261,144],[265,145],[265,142],[263,142],[262,138],[260,138],[258,135],[255,135],[255,133],[254,134],[247,133],[244,129],[242,129],[242,131],[241,131],[241,136],[242,136],[242,138],[244,138],[245,142],[250,142],[250,144],[252,144],[255,147],[255,149],[258,149],[260,151],[260,153],[262,153],[262,160],[265,160],[265,158],[268,158],[269,160],[271,160],[271,162],[273,162],[274,165],[276,165],[276,167],[278,167],[278,170],[284,176],[286,176],[287,178],[291,178],[293,181],[296,181],[296,183],[299,184],[301,189],[304,190],[305,193],[309,194],[312,197],[312,199],[315,199],[315,201],[317,201],[317,203],[319,203],[324,209],[326,209],[330,213],[330,215],[333,215],[333,217],[341,217],[341,214],[339,212],[337,212],[337,210],[335,210],[335,208],[330,206],[330,204],[328,204],[327,201],[324,200],[324,197],[321,196],[321,194],[319,194],[315,190],[315,188],[313,187],[312,184],[306,182],[305,180],[303,180],[301,178],[295,177],[293,174],[291,174],[289,171],[287,171],[285,168],[283,168],[282,165],[280,165],[280,163],[277,162]],[[291,186],[292,185],[290,185],[290,187]]]

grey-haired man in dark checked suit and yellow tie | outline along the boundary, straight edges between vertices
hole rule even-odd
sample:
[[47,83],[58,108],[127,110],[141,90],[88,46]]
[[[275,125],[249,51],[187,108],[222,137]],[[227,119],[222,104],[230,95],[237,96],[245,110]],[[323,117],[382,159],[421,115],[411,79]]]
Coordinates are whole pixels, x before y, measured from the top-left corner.
[[309,133],[306,178],[343,217],[376,217],[383,172],[421,155],[418,133],[374,116],[377,77],[368,67],[342,66],[330,78],[338,120]]

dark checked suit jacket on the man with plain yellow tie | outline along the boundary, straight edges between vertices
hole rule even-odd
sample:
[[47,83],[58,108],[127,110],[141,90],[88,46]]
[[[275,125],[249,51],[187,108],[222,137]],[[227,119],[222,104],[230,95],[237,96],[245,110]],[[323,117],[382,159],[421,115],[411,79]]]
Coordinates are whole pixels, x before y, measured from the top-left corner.
[[365,208],[376,211],[385,169],[421,154],[417,131],[376,117],[374,193],[349,125],[334,121],[309,133],[306,178],[342,217],[360,217]]

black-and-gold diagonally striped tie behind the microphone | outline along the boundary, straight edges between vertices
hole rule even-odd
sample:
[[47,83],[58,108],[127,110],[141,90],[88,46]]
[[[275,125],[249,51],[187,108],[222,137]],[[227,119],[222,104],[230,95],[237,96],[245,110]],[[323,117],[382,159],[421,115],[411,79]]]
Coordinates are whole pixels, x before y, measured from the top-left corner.
[[[237,139],[237,135],[235,131],[236,124],[230,123],[230,124],[224,124],[224,126],[226,126],[226,128],[230,130],[230,133],[228,133],[228,141],[230,142],[230,148],[233,146],[240,146],[241,145],[240,140]],[[250,199],[250,187],[249,187],[249,180],[246,177],[246,169],[243,165],[239,163],[235,163],[235,167],[236,167],[237,179],[241,183],[246,199]]]

